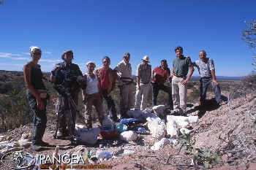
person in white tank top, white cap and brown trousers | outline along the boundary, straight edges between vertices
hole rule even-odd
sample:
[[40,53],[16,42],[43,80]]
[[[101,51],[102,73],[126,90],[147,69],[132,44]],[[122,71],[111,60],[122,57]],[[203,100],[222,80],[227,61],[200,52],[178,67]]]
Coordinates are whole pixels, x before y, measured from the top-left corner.
[[96,64],[92,61],[89,61],[86,63],[88,72],[86,74],[83,74],[83,78],[86,80],[87,87],[85,90],[82,90],[83,94],[83,103],[85,105],[86,110],[86,126],[87,128],[92,128],[92,106],[94,105],[94,108],[96,109],[98,120],[100,125],[102,125],[102,122],[104,120],[104,113],[103,113],[103,96],[102,96],[102,90],[100,87],[100,82],[98,81],[97,74],[94,74],[94,68]]

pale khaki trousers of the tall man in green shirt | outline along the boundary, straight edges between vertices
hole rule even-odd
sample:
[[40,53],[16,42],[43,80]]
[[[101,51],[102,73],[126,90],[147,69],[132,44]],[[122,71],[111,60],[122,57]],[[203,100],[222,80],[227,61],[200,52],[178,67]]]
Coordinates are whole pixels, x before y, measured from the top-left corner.
[[183,77],[173,77],[172,91],[173,91],[173,108],[181,108],[181,115],[186,114],[187,111],[187,83],[181,85],[181,82],[185,80]]

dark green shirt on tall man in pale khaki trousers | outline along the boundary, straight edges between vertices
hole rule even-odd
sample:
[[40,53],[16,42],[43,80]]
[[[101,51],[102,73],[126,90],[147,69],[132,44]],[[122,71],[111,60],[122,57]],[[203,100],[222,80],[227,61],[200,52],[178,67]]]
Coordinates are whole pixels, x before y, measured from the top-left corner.
[[178,77],[187,77],[187,73],[189,72],[189,66],[191,65],[191,60],[185,58],[184,55],[181,56],[181,59],[175,58],[173,60],[174,75]]

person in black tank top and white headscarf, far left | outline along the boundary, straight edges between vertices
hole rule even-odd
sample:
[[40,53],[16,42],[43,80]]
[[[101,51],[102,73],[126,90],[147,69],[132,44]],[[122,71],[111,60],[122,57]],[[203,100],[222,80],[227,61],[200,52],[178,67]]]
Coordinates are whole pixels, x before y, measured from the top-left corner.
[[42,50],[37,46],[30,47],[31,61],[23,66],[23,74],[25,78],[26,96],[29,101],[29,106],[34,112],[33,120],[33,138],[31,149],[40,151],[42,147],[49,146],[48,142],[42,141],[42,136],[45,134],[47,123],[46,117],[46,96],[39,96],[39,90],[45,89],[45,84],[42,82],[41,66],[38,64],[42,56]]

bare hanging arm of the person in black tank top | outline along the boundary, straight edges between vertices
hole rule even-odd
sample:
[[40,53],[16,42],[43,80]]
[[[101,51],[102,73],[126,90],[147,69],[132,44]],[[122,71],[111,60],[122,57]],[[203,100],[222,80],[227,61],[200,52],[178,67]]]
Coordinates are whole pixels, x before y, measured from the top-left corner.
[[25,78],[26,87],[29,88],[30,93],[37,99],[37,108],[44,109],[44,104],[37,91],[31,85],[31,65],[26,63],[23,66],[23,74]]

